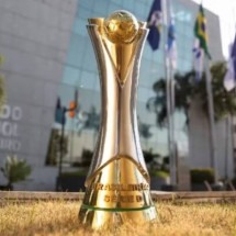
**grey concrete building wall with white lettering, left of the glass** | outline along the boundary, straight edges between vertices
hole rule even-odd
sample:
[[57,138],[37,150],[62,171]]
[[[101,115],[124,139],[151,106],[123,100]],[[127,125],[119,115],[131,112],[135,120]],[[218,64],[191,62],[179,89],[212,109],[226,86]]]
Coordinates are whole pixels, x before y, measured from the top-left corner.
[[44,162],[76,9],[77,0],[0,0],[1,74],[8,93],[0,164],[18,153],[33,167],[33,181],[16,189],[55,188],[57,169]]

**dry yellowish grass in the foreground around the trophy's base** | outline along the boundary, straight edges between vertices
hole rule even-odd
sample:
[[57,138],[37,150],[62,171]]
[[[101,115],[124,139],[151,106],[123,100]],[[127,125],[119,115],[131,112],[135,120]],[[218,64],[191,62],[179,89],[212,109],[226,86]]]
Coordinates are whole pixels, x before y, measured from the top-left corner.
[[91,232],[79,224],[78,202],[9,203],[0,209],[1,236],[229,236],[236,235],[235,204],[158,203],[159,222],[151,227],[124,225],[119,232]]

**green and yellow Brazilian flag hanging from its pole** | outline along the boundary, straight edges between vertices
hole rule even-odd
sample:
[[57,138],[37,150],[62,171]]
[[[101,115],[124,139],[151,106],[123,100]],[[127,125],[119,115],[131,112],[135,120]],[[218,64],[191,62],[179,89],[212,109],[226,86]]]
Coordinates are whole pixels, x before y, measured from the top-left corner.
[[207,47],[209,35],[206,33],[206,18],[202,4],[200,4],[199,13],[195,20],[194,35],[196,38],[199,38],[200,47],[207,55],[209,59],[211,59],[211,55],[209,53]]

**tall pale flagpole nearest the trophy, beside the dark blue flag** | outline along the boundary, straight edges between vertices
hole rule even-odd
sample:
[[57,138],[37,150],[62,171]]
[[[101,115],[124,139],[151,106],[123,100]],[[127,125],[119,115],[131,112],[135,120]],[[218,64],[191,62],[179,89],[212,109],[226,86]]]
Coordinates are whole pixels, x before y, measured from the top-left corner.
[[176,186],[176,160],[175,160],[175,149],[173,149],[173,122],[172,122],[172,105],[171,105],[171,66],[170,59],[167,55],[167,45],[168,40],[168,11],[167,11],[167,1],[162,0],[162,12],[164,12],[164,52],[165,52],[165,68],[166,68],[166,94],[167,94],[167,124],[168,124],[168,148],[169,148],[169,158],[170,158],[170,182],[172,186]]

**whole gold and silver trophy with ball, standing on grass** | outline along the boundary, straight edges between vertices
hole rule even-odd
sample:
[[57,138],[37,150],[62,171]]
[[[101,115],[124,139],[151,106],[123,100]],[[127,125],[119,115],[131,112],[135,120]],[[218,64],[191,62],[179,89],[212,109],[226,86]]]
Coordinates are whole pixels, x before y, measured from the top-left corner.
[[146,23],[122,10],[108,19],[89,19],[87,27],[100,72],[102,105],[79,220],[93,229],[125,222],[153,222],[157,212],[150,198],[136,117]]

